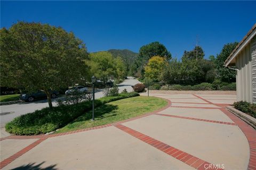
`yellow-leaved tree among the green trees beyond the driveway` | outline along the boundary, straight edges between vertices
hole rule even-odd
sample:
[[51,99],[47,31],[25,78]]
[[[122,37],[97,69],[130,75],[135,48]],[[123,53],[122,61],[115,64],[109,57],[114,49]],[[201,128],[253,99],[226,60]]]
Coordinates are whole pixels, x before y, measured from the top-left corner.
[[145,67],[145,77],[153,81],[159,81],[162,70],[166,64],[166,58],[164,57],[151,57]]

